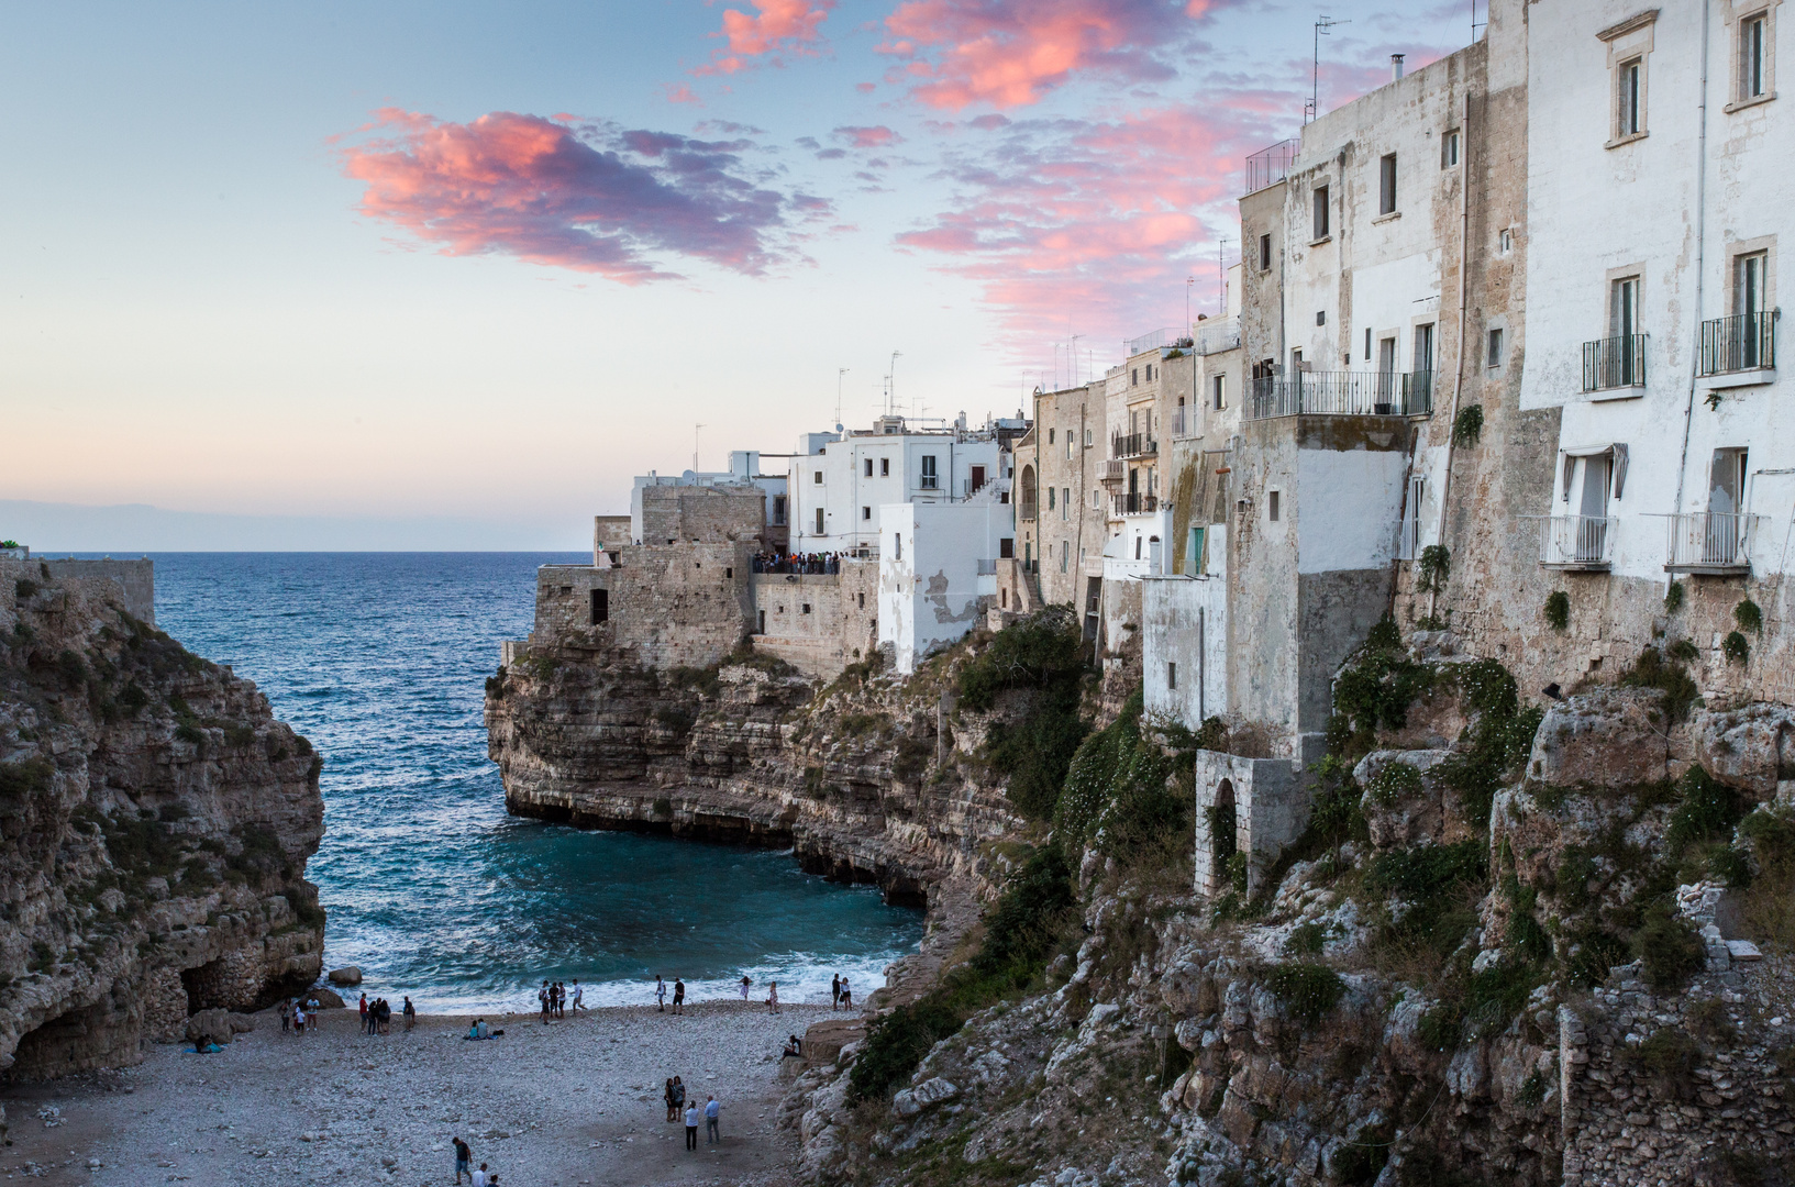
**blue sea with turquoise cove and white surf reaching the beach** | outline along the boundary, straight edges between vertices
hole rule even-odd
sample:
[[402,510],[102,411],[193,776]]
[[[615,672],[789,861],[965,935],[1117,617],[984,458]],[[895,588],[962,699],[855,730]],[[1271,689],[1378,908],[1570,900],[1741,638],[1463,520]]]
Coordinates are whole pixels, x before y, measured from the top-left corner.
[[533,1009],[544,979],[589,1004],[829,1000],[914,952],[923,916],[802,873],[790,851],[506,815],[481,724],[501,639],[530,634],[535,571],[580,553],[162,553],[156,625],[230,664],[323,754],[307,866],[325,968],[420,1009]]

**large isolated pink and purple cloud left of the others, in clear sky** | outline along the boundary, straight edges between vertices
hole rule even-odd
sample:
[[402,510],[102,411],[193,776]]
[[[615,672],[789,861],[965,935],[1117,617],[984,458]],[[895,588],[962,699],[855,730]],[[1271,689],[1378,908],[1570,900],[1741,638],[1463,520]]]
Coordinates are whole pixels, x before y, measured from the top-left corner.
[[792,259],[793,219],[831,212],[749,176],[747,140],[705,142],[494,111],[467,124],[386,108],[343,172],[363,214],[443,255],[512,255],[623,284],[677,277],[659,257],[745,275]]

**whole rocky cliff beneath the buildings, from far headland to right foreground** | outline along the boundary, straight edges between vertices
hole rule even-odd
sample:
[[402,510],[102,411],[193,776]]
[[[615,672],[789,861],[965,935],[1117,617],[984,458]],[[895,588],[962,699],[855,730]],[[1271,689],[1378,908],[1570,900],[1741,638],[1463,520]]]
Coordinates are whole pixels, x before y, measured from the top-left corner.
[[1529,708],[1384,630],[1335,681],[1309,830],[1197,894],[1192,754],[1226,731],[1143,720],[1111,672],[1068,733],[1038,643],[820,693],[571,654],[488,690],[517,810],[962,889],[867,1025],[813,1031],[806,1182],[1786,1182],[1795,713],[1703,706],[1657,654]]

